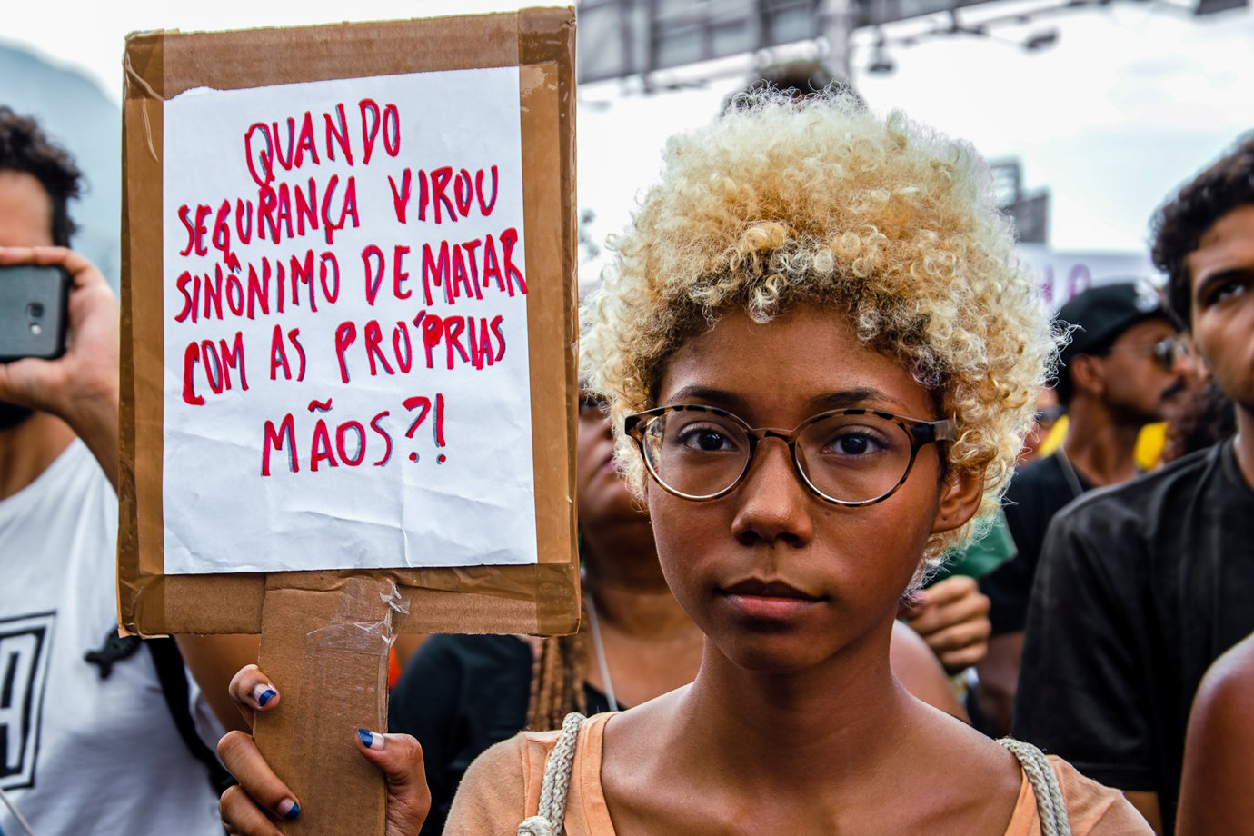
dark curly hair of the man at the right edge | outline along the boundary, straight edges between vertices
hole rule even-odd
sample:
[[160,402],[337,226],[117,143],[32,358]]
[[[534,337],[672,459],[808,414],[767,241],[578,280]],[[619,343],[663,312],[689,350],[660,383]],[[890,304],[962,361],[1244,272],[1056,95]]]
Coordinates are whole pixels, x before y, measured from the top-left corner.
[[1154,216],[1154,264],[1167,274],[1167,305],[1185,325],[1193,312],[1193,288],[1185,258],[1216,221],[1254,203],[1254,134],[1180,187]]

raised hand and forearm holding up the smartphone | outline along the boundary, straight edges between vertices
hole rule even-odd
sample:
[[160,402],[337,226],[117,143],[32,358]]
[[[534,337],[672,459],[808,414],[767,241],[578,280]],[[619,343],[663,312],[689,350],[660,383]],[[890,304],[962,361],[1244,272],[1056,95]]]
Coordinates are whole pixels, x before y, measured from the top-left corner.
[[0,363],[0,400],[63,419],[118,488],[118,300],[92,262],[64,247],[0,247],[0,264],[70,274],[65,353]]

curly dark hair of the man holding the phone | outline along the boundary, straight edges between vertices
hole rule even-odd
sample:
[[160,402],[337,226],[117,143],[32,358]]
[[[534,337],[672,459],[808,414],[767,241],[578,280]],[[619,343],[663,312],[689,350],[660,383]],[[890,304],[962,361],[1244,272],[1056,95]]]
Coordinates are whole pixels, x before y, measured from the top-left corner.
[[53,243],[69,247],[76,229],[69,202],[79,197],[83,172],[38,122],[6,107],[0,107],[0,170],[24,172],[39,180],[53,202]]

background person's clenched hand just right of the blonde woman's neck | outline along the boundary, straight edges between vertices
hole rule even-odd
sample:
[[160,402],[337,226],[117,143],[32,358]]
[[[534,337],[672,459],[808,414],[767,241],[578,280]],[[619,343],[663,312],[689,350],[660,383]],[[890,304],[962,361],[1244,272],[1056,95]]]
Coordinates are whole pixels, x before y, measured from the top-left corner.
[[974,578],[953,575],[920,589],[900,615],[949,673],[969,668],[988,652],[988,598]]

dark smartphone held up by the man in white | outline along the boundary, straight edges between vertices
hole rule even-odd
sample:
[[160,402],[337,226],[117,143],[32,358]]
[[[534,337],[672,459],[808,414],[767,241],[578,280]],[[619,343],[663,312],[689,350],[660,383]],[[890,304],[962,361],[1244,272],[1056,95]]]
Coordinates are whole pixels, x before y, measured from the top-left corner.
[[65,353],[69,300],[60,267],[0,266],[0,362]]

